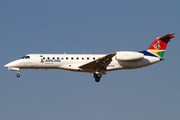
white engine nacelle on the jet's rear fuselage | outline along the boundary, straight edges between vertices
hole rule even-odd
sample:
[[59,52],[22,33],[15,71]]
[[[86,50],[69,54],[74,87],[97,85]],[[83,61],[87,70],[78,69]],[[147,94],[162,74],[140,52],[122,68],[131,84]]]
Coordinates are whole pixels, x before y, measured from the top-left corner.
[[120,51],[116,53],[115,59],[119,61],[136,61],[144,58],[144,54],[139,52]]

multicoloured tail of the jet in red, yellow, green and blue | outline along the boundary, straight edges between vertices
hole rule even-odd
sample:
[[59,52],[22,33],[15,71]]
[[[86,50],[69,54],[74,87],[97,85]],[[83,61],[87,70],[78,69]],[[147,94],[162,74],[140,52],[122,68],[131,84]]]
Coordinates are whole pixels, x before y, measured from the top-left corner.
[[156,40],[151,44],[151,46],[146,51],[143,51],[143,53],[163,59],[166,46],[168,42],[170,42],[170,39],[174,38],[174,34],[175,33],[170,33],[162,37],[157,37]]

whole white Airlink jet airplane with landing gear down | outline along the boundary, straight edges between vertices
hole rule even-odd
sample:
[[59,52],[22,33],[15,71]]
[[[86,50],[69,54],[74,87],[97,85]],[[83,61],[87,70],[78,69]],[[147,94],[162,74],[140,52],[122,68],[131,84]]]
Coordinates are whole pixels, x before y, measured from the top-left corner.
[[93,73],[99,82],[102,74],[114,70],[135,69],[152,65],[164,60],[163,55],[170,39],[175,33],[157,37],[144,51],[117,51],[111,54],[27,54],[4,67],[17,71],[20,69],[63,69],[76,72]]

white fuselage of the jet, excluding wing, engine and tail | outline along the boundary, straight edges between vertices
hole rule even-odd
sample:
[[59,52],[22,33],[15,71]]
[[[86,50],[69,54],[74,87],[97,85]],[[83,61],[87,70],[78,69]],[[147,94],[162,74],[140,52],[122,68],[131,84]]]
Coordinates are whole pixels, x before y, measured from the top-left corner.
[[[95,61],[103,56],[105,54],[28,54],[26,55],[27,58],[24,57],[10,62],[5,67],[16,71],[19,71],[18,69],[64,69],[93,73],[94,69],[81,69],[79,66]],[[106,71],[140,68],[159,61],[160,58],[153,56],[144,56],[143,59],[135,61],[119,61],[114,56]]]

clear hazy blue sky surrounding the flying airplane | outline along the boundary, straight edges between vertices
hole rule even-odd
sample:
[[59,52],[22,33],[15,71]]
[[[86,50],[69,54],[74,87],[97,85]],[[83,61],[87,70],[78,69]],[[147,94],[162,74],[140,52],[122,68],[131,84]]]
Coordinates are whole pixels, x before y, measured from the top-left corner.
[[[179,0],[1,0],[0,119],[169,120],[180,118]],[[165,60],[120,70],[96,83],[93,74],[8,71],[29,53],[108,54],[147,49],[175,32]]]

